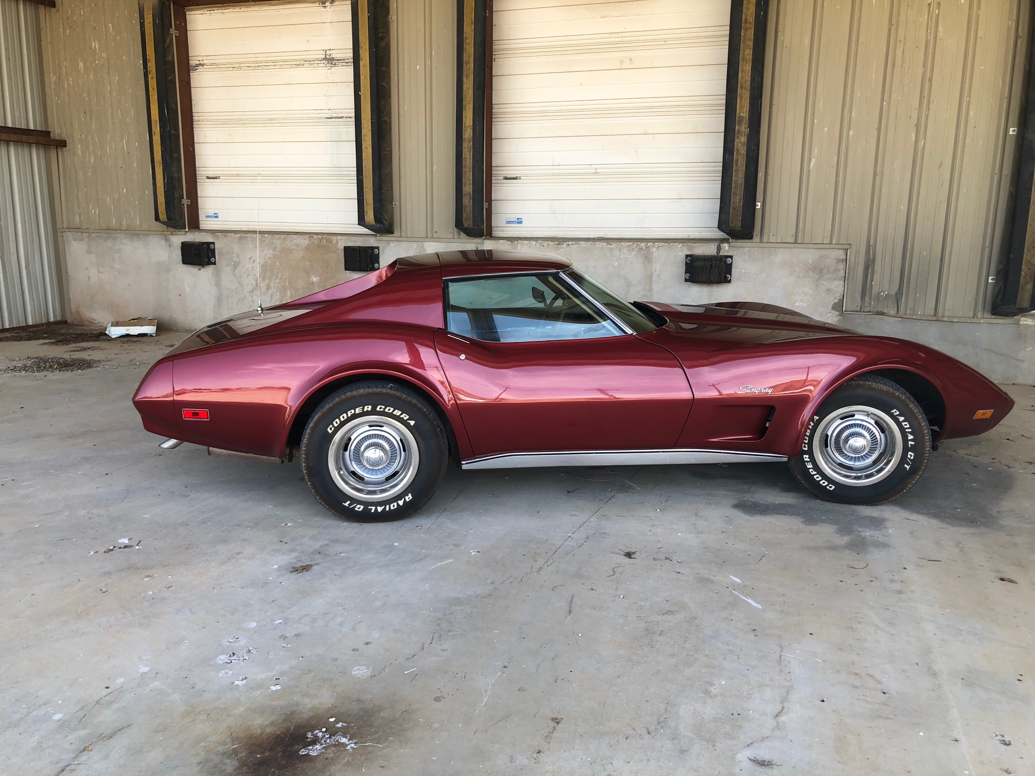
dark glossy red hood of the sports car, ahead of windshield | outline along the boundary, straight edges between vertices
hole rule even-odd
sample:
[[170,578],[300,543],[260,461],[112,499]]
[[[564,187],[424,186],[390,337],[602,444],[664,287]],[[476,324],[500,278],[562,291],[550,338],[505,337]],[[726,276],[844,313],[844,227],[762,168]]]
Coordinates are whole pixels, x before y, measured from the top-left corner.
[[663,316],[674,334],[715,340],[717,346],[763,345],[814,337],[858,335],[801,312],[761,302],[668,304],[637,302]]

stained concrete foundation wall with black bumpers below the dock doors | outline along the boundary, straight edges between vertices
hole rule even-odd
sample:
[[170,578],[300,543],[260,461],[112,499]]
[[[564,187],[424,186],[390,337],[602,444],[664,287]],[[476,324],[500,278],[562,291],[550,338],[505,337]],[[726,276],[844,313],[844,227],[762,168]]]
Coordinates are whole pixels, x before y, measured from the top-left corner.
[[[492,247],[560,253],[627,299],[701,303],[746,299],[836,321],[845,288],[845,249],[714,242],[420,241],[345,235],[196,233],[147,235],[65,232],[71,320],[108,323],[157,318],[170,329],[196,329],[255,307],[285,302],[356,276],[343,270],[342,246],[378,244],[382,261],[433,250]],[[214,267],[180,262],[185,239],[215,242]],[[685,253],[734,257],[733,282],[683,281]]]

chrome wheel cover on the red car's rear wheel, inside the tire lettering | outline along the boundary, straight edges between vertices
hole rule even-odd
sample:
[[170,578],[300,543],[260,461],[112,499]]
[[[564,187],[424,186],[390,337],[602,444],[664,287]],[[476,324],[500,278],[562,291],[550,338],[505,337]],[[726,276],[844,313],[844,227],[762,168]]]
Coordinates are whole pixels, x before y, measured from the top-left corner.
[[417,441],[396,420],[357,418],[331,440],[327,467],[334,483],[353,498],[390,499],[405,490],[420,465]]

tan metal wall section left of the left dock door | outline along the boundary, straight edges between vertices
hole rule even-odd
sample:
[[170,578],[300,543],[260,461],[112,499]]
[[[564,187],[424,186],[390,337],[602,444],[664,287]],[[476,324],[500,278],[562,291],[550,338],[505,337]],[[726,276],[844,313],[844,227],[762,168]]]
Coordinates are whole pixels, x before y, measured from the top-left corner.
[[60,2],[41,14],[60,229],[168,232],[154,220],[137,0]]

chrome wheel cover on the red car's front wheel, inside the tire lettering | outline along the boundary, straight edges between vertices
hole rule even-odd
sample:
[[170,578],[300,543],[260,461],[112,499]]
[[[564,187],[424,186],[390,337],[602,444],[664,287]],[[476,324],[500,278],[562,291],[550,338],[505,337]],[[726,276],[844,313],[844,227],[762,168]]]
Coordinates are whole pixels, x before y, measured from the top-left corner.
[[816,459],[842,485],[873,485],[894,471],[903,455],[903,432],[890,416],[873,407],[845,407],[816,429]]

